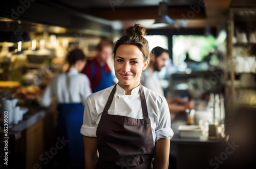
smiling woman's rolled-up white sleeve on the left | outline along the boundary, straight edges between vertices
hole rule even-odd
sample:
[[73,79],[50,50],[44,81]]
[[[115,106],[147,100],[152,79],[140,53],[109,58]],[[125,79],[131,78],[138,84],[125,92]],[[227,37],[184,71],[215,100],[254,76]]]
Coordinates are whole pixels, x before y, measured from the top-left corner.
[[92,106],[90,96],[86,100],[83,113],[83,124],[81,127],[81,134],[88,137],[96,137],[96,116]]

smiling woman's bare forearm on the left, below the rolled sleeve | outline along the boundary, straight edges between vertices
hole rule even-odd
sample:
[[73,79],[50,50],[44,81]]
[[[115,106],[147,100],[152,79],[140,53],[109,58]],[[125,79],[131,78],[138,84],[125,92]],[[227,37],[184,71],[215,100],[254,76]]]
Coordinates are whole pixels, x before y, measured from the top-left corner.
[[84,143],[84,168],[95,169],[96,163],[98,161],[98,150],[97,150],[97,138],[83,136]]

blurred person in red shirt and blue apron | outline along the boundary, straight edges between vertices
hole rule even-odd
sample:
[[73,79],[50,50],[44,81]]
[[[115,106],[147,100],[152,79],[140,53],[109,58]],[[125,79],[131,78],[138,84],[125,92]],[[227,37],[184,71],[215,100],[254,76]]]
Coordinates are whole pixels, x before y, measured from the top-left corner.
[[114,85],[113,74],[108,66],[107,60],[112,53],[112,45],[106,40],[102,40],[96,46],[97,55],[94,60],[88,62],[82,73],[86,74],[91,82],[93,93],[106,89]]

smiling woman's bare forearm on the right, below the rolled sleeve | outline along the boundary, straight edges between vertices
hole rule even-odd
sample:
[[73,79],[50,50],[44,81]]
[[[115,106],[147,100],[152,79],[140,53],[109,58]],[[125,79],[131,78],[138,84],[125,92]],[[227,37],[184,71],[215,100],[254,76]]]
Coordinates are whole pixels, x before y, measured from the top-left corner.
[[161,138],[155,145],[154,168],[167,169],[169,165],[170,139]]

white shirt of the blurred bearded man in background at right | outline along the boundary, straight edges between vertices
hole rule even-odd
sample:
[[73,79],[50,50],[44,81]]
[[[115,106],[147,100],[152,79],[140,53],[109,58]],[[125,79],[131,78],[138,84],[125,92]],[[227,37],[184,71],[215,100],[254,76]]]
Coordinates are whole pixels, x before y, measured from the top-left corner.
[[142,85],[147,89],[150,89],[157,94],[164,96],[163,89],[159,83],[157,75],[150,68],[147,68],[143,73],[144,80],[141,81]]

